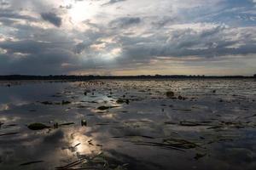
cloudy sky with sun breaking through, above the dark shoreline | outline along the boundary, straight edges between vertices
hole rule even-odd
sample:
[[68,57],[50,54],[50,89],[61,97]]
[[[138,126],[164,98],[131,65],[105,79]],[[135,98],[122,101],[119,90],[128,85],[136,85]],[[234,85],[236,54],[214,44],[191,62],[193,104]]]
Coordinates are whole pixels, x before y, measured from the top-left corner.
[[0,0],[0,75],[256,74],[256,0]]

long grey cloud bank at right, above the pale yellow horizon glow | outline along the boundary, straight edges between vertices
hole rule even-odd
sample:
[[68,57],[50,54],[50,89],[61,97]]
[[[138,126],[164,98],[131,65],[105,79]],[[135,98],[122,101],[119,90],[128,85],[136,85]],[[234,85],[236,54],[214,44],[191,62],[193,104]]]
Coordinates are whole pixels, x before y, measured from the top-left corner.
[[[247,32],[250,39],[239,37],[230,40],[230,34],[234,32],[217,26],[207,31],[185,29],[151,37],[120,37],[125,56],[122,60],[149,62],[149,59],[157,57],[199,56],[206,59],[224,55],[256,54],[256,41],[253,40],[255,32]],[[240,32],[236,30],[236,34]],[[248,43],[250,41],[253,43]]]

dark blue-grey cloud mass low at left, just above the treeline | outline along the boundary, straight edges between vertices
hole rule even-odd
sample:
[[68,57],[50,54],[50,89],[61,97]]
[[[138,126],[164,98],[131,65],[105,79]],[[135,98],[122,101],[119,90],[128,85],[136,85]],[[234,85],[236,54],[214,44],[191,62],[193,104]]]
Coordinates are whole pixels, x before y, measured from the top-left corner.
[[67,73],[68,70],[61,67],[63,63],[79,64],[72,50],[63,44],[58,46],[47,42],[20,41],[0,43],[0,47],[8,51],[7,54],[0,55],[5,60],[0,64],[2,73],[14,71],[22,74],[61,74]]

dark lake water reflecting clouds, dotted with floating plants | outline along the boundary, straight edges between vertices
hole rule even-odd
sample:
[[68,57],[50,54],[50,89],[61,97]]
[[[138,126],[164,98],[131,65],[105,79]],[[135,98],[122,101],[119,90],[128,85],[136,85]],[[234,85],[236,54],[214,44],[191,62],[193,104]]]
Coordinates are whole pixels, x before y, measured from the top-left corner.
[[253,80],[8,83],[1,170],[256,169]]

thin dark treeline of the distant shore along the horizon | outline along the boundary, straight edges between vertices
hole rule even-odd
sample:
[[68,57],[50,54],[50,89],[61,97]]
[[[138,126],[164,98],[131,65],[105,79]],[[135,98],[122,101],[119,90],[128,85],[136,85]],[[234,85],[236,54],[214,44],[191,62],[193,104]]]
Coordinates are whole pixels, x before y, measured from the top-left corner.
[[256,76],[185,76],[185,75],[155,75],[155,76],[27,76],[7,75],[0,76],[0,81],[21,81],[21,80],[62,80],[62,81],[88,81],[88,80],[147,80],[147,79],[253,79]]

